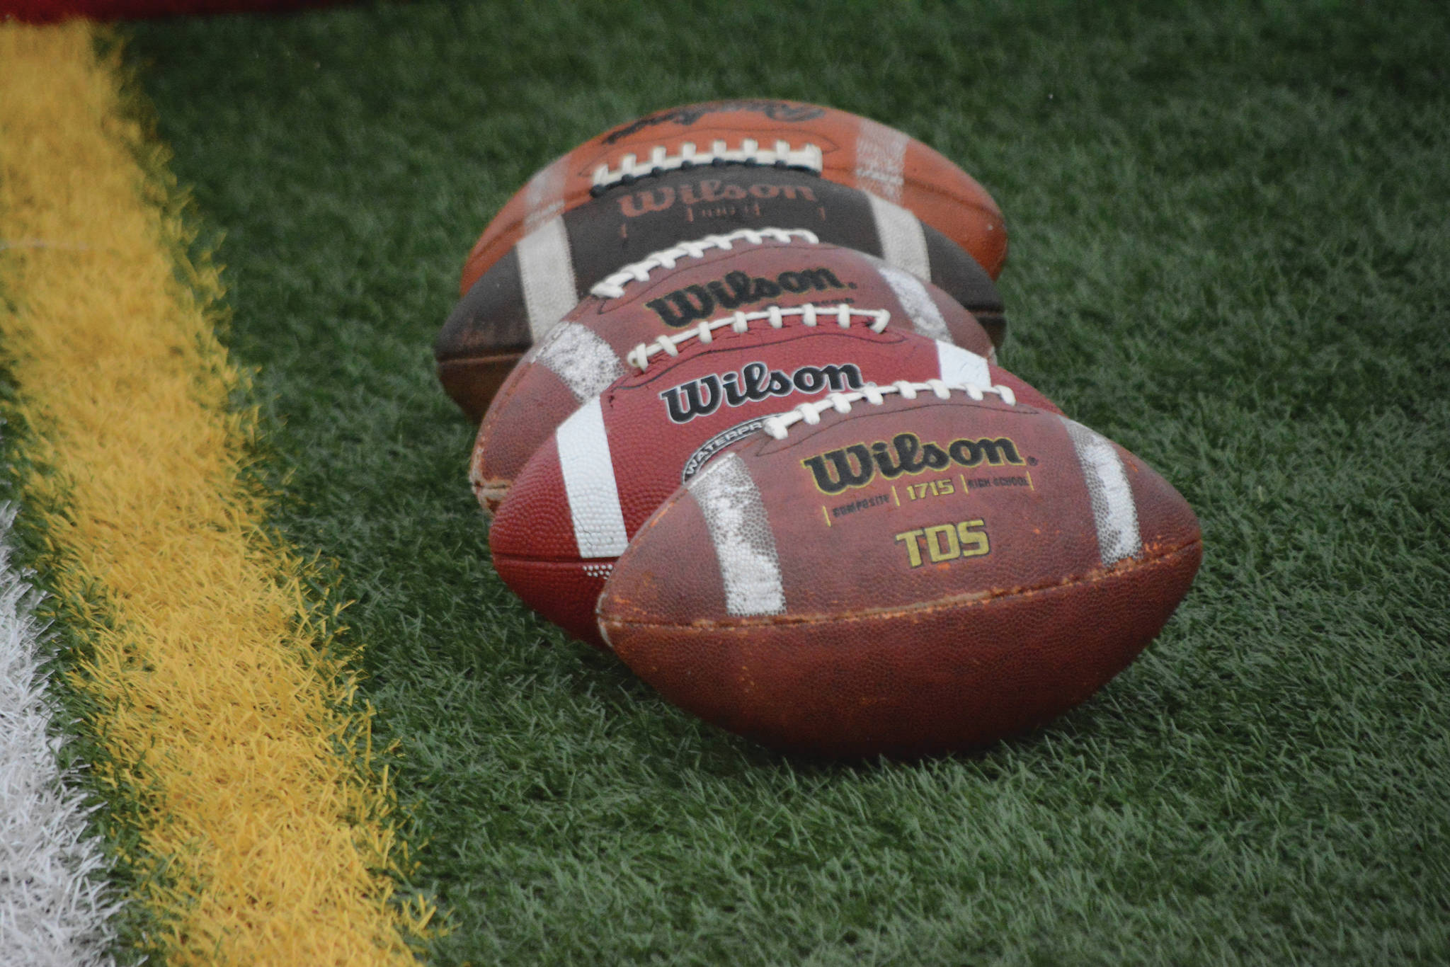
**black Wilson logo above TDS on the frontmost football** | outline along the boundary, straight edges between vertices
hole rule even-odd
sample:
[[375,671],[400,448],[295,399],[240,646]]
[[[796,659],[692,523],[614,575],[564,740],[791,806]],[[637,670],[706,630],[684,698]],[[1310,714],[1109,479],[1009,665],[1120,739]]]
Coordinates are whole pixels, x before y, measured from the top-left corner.
[[896,433],[890,444],[884,441],[871,445],[851,444],[802,460],[800,465],[815,477],[821,493],[841,493],[850,487],[864,487],[876,478],[876,474],[895,480],[902,474],[945,470],[951,464],[1000,467],[1022,462],[1016,444],[1006,436],[963,438],[941,447],[929,441],[922,444],[916,433]]

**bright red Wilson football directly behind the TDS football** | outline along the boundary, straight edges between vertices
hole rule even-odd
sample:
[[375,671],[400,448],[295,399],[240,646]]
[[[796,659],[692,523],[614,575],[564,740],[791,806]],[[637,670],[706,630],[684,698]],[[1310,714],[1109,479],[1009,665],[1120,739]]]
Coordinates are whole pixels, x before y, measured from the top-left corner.
[[519,471],[489,534],[499,577],[554,623],[600,644],[594,602],[631,535],[766,416],[903,378],[995,384],[1051,406],[980,355],[892,329],[887,315],[771,306],[639,346],[634,374],[580,406]]

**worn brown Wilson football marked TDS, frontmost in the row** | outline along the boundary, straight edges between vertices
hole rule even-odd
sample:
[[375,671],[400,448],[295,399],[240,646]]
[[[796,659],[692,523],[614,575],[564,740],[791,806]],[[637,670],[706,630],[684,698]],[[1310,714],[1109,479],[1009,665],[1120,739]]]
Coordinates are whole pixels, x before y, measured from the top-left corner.
[[1072,709],[1202,555],[1141,460],[1000,391],[831,394],[767,419],[644,523],[599,600],[666,699],[773,747],[919,755]]

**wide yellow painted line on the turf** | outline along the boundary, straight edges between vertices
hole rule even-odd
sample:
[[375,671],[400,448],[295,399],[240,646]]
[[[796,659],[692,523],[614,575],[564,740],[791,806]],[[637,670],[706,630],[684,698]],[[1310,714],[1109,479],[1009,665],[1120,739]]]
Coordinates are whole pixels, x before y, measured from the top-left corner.
[[392,896],[393,797],[329,657],[336,612],[268,536],[216,273],[184,257],[161,149],[94,39],[0,25],[0,351],[23,500],[94,648],[72,673],[94,771],[138,796],[133,899],[173,964],[412,963],[432,912]]

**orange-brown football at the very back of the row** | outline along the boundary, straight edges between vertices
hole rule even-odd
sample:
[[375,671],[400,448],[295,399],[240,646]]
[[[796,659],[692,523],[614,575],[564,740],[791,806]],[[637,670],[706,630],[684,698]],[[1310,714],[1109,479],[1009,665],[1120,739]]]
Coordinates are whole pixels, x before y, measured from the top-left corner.
[[992,278],[1006,260],[1002,212],[972,175],[886,125],[787,100],[686,104],[621,125],[541,168],[473,246],[460,294],[523,235],[590,197],[700,165],[809,171],[886,199],[961,245]]

